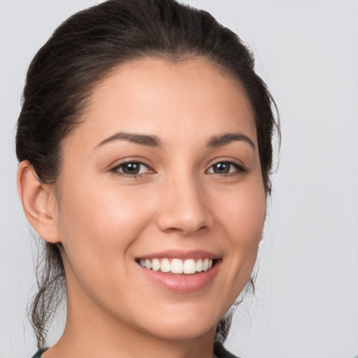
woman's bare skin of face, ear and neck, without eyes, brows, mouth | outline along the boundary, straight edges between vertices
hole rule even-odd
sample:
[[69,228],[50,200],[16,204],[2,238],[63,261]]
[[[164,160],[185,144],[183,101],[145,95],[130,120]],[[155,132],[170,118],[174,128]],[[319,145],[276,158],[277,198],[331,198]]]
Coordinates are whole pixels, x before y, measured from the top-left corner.
[[[117,132],[163,145],[99,145]],[[238,132],[255,148],[206,146]],[[127,159],[145,164],[140,176],[112,170]],[[215,173],[225,161],[245,171]],[[236,80],[199,58],[124,64],[96,85],[64,140],[56,187],[41,185],[28,162],[18,187],[38,234],[63,245],[66,328],[43,358],[213,356],[217,322],[255,264],[266,208],[254,115]],[[213,281],[178,293],[148,280],[136,259],[172,249],[215,253]]]

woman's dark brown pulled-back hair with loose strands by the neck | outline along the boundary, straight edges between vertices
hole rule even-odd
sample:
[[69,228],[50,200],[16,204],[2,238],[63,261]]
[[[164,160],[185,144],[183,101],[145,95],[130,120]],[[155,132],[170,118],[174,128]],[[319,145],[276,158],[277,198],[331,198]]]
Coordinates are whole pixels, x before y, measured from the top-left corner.
[[[212,15],[175,0],[109,0],[72,15],[55,30],[27,72],[17,121],[17,159],[28,160],[42,183],[56,185],[62,141],[80,124],[94,86],[117,66],[146,57],[172,62],[201,57],[238,80],[255,114],[262,178],[269,195],[278,111],[254,71],[254,57]],[[66,285],[61,244],[43,245],[43,264],[36,273],[38,292],[28,313],[39,348],[45,345]],[[247,287],[253,288],[253,283],[250,278]],[[217,325],[221,342],[227,338],[231,316],[225,315]]]

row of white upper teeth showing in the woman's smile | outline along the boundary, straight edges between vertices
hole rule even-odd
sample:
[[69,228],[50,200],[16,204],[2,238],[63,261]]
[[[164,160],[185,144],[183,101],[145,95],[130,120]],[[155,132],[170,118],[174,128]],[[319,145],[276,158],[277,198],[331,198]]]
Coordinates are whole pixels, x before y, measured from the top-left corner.
[[153,271],[190,274],[208,271],[213,266],[213,259],[141,259],[139,264]]

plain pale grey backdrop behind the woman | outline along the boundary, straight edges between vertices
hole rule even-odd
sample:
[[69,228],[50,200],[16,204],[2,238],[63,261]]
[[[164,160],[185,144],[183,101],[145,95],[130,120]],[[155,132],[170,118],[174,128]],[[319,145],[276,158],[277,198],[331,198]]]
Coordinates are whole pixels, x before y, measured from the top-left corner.
[[[100,1],[0,0],[0,358],[31,357],[36,250],[15,174],[15,122],[31,58]],[[358,353],[358,1],[192,0],[250,45],[282,118],[280,170],[259,252],[257,296],[227,348],[244,358]],[[50,343],[59,337],[55,322]]]

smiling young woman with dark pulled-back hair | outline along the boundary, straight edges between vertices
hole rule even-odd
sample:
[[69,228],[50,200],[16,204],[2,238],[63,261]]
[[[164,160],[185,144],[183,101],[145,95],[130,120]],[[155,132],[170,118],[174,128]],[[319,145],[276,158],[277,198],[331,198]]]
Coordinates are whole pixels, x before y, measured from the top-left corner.
[[[253,66],[234,33],[172,0],[106,1],[38,52],[16,138],[45,241],[35,357],[232,357],[271,189],[273,100]],[[45,350],[64,286],[66,327]]]

